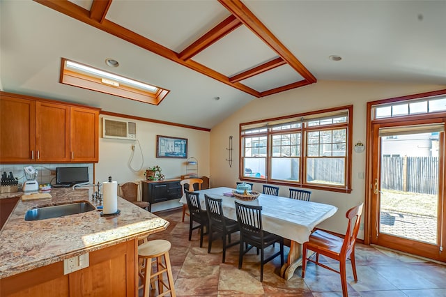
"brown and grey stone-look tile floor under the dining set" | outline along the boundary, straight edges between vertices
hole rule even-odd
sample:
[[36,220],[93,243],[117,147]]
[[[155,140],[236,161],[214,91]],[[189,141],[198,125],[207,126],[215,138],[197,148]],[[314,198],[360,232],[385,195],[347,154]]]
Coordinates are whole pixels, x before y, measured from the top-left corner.
[[[181,222],[180,209],[157,215],[170,225],[149,240],[164,238],[172,243],[170,256],[176,296],[342,296],[337,273],[309,263],[304,280],[298,268],[286,281],[279,277],[278,257],[266,264],[263,282],[260,282],[259,256],[255,250],[244,257],[240,270],[238,245],[226,250],[226,263],[222,264],[221,241],[214,241],[208,254],[207,236],[203,248],[199,248],[197,230],[192,233],[192,241],[187,240],[189,217]],[[285,248],[285,255],[288,251]],[[355,251],[358,282],[353,281],[348,261],[349,296],[446,296],[445,265],[362,244],[357,244]],[[337,267],[330,259],[323,261]]]

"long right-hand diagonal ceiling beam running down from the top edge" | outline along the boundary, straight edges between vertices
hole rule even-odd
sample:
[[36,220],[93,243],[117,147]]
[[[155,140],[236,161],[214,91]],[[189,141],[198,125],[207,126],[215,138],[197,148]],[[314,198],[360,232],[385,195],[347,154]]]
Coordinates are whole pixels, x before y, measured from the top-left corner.
[[269,45],[272,50],[277,52],[310,84],[317,81],[316,77],[309,72],[305,66],[277,39],[271,31],[251,12],[240,0],[218,0],[230,13],[235,15],[245,26],[247,26],[256,36],[261,38],[264,43]]

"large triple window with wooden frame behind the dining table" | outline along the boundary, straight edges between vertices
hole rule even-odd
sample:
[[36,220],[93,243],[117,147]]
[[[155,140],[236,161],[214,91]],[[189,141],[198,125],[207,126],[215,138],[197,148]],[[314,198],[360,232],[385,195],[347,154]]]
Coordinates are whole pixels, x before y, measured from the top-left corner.
[[353,106],[240,124],[240,178],[351,192]]

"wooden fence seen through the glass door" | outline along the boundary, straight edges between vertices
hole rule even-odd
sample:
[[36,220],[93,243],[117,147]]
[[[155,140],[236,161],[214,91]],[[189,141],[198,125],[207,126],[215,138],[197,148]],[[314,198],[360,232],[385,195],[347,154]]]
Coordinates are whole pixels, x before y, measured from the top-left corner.
[[438,193],[438,157],[384,157],[381,189]]

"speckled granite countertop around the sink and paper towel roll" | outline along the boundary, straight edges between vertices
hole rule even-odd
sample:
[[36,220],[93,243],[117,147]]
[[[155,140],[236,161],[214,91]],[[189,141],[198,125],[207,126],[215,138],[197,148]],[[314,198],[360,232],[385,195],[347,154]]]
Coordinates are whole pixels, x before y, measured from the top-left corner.
[[[169,222],[118,197],[121,214],[101,217],[89,211],[61,218],[25,221],[31,208],[88,200],[89,189],[53,189],[52,198],[17,202],[13,213],[0,230],[0,279],[93,252],[135,238],[163,231]],[[1,198],[22,193],[9,193]]]

